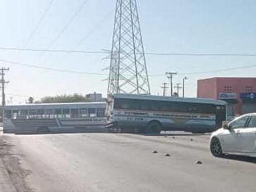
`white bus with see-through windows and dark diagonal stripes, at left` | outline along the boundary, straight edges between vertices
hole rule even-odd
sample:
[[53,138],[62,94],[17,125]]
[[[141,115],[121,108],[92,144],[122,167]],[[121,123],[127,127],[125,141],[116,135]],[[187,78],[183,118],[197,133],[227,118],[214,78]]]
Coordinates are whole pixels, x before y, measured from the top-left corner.
[[105,102],[9,105],[3,111],[3,132],[102,132],[105,109]]

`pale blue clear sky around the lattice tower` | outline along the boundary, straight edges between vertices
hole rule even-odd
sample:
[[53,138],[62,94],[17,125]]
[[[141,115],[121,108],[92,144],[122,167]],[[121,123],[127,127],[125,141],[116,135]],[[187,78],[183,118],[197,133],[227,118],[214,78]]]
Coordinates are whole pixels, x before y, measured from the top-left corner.
[[[0,1],[0,48],[67,51],[110,49],[115,0],[84,2]],[[256,54],[254,0],[137,0],[137,3],[145,52]],[[47,7],[49,9],[46,12]],[[44,12],[46,14],[41,19]],[[24,103],[28,97],[38,100],[46,95],[87,94],[94,91],[106,96],[108,81],[105,79],[108,78],[108,70],[103,69],[108,68],[110,61],[105,57],[108,54],[0,49],[0,66],[10,68],[5,72],[6,81],[10,81],[6,85],[6,102]],[[174,77],[174,84],[181,83],[184,76],[188,77],[185,84],[186,97],[196,97],[197,80],[201,78],[256,76],[256,66],[200,73],[255,65],[256,57],[146,55],[146,61],[152,94],[163,93],[161,86],[163,82],[168,82],[164,75],[167,71],[178,73]],[[88,74],[31,68],[15,64],[17,62]]]

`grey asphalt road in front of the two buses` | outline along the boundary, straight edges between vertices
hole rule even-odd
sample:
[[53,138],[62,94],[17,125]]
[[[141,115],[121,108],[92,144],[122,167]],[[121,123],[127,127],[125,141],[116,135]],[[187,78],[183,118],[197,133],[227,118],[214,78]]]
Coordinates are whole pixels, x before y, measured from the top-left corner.
[[77,133],[1,139],[9,146],[3,162],[18,191],[256,190],[256,161],[213,157],[209,135]]

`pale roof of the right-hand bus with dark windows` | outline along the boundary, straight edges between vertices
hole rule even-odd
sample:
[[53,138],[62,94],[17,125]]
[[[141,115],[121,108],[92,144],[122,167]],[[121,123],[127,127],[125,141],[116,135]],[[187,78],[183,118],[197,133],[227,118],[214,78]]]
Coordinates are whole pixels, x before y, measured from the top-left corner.
[[157,95],[139,95],[139,94],[122,94],[122,93],[114,94],[114,98],[226,105],[225,101],[221,101],[217,99],[207,99],[207,98],[163,97],[163,96],[157,96]]

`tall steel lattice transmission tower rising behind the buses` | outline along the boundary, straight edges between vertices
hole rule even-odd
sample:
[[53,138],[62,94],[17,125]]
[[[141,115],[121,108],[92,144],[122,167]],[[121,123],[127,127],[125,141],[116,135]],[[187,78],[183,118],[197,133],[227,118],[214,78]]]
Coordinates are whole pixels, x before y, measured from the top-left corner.
[[117,0],[108,95],[150,94],[136,0]]

